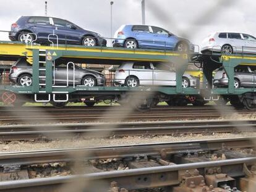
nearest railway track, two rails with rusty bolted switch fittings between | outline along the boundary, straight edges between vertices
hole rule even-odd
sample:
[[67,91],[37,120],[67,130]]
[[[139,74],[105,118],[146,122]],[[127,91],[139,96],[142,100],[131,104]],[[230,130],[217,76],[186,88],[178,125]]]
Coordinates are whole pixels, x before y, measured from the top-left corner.
[[[116,182],[127,190],[176,186],[176,190],[180,191],[185,188],[199,188],[202,191],[203,187],[208,189],[211,185],[209,181],[213,181],[212,184],[216,182],[216,185],[209,187],[211,191],[225,191],[223,185],[230,185],[235,191],[234,181],[248,181],[250,178],[244,177],[248,176],[250,166],[256,162],[255,152],[240,150],[254,150],[255,141],[256,138],[233,138],[0,154],[0,166],[3,170],[14,165],[25,169],[31,164],[73,161],[82,164],[89,159],[105,158],[126,159],[130,166],[129,170],[0,182],[0,191],[63,191],[63,187],[67,188],[69,185],[75,191],[79,183],[88,181],[90,182],[85,183],[88,191],[100,192],[107,191],[111,182]],[[211,159],[213,154],[225,158]],[[139,156],[143,158],[138,160]],[[244,172],[245,169],[247,172]],[[186,182],[189,182],[188,185]]]

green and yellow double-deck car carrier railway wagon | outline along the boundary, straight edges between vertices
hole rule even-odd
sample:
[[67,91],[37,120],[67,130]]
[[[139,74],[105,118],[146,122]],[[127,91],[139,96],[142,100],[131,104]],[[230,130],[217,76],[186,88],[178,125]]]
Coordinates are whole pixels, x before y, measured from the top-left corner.
[[[2,102],[20,104],[33,99],[35,102],[51,102],[55,106],[64,106],[70,101],[95,99],[103,101],[112,99],[124,103],[130,99],[139,99],[134,107],[139,110],[148,110],[160,101],[171,102],[177,98],[194,99],[198,104],[205,101],[224,98],[236,108],[245,107],[250,110],[256,109],[256,89],[234,89],[234,67],[237,65],[256,65],[256,56],[245,54],[187,54],[176,51],[160,51],[148,49],[124,49],[106,47],[88,47],[59,45],[40,46],[19,42],[1,41],[1,61],[17,61],[24,57],[33,65],[33,78],[31,86],[1,85],[0,94]],[[54,85],[54,67],[62,62],[69,66],[74,63],[87,64],[115,64],[125,61],[138,62],[168,62],[176,71],[176,86],[82,86],[75,85],[74,71],[67,73],[67,85]],[[182,75],[187,69],[189,62],[195,62],[202,67],[204,83],[195,88],[182,88]],[[213,70],[223,66],[229,78],[227,88],[213,88]],[[43,76],[41,72],[44,72]],[[40,79],[45,82],[41,83]],[[70,83],[71,82],[71,83]]]

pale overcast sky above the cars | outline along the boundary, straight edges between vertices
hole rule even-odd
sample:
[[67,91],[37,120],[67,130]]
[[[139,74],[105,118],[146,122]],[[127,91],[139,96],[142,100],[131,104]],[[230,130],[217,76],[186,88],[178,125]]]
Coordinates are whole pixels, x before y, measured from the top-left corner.
[[[122,24],[141,23],[141,0],[113,0],[113,32]],[[213,31],[256,36],[255,0],[145,0],[146,23],[187,37],[194,44]],[[45,0],[0,0],[1,30],[20,15],[45,15]],[[109,0],[48,0],[48,15],[110,36]],[[0,33],[1,34],[1,33]],[[8,40],[7,34],[0,35]]]

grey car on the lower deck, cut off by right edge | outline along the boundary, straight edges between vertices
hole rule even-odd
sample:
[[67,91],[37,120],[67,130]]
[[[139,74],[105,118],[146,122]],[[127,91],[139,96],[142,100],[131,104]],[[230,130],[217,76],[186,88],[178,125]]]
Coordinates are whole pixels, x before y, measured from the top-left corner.
[[[228,77],[223,67],[215,73],[213,85],[228,86]],[[234,88],[256,86],[256,67],[240,65],[234,71]]]

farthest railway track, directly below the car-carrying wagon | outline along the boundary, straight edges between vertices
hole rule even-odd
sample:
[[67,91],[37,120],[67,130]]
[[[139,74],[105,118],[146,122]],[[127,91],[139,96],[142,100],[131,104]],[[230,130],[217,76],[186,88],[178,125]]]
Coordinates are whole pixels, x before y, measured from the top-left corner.
[[[118,110],[113,110],[118,109]],[[22,107],[21,109],[0,109],[1,123],[44,123],[44,122],[95,122],[112,120],[179,120],[179,119],[217,119],[234,114],[232,107],[168,107],[158,106],[149,112],[132,112],[123,115],[122,107]],[[174,113],[175,111],[175,113]],[[236,114],[250,115],[250,111],[236,111]]]

